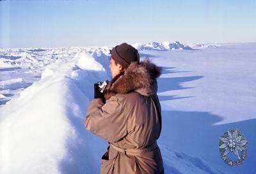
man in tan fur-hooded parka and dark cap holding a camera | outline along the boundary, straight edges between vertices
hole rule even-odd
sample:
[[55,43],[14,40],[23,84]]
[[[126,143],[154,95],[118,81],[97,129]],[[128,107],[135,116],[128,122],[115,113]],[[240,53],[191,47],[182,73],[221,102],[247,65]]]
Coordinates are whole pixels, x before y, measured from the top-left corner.
[[[100,173],[163,174],[163,160],[156,140],[161,133],[161,106],[157,81],[161,68],[145,60],[127,43],[111,50],[113,79],[104,96],[95,85],[84,126],[108,141]],[[104,103],[106,99],[106,103]]]

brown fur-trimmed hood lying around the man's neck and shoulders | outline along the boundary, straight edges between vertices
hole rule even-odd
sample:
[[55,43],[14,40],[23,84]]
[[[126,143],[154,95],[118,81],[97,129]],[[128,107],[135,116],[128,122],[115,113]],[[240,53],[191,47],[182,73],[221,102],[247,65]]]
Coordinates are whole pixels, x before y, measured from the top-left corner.
[[116,75],[108,83],[104,96],[109,99],[115,94],[127,94],[139,92],[141,95],[149,96],[157,92],[157,81],[161,75],[161,67],[156,66],[148,59],[140,63],[132,62],[129,67],[119,75]]

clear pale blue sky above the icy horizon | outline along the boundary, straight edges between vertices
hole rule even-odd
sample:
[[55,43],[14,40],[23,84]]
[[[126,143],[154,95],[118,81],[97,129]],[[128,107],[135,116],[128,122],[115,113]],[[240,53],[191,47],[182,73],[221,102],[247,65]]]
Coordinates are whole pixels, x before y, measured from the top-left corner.
[[0,48],[256,42],[256,0],[0,1]]

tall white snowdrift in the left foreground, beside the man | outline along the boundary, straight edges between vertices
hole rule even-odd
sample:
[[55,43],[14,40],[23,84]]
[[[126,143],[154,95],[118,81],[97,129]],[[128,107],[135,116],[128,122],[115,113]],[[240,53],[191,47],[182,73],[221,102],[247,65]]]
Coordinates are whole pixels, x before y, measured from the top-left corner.
[[41,80],[12,99],[1,110],[0,173],[98,173],[104,142],[95,146],[83,119],[88,89],[100,78],[107,78],[105,69],[81,52],[47,66]]

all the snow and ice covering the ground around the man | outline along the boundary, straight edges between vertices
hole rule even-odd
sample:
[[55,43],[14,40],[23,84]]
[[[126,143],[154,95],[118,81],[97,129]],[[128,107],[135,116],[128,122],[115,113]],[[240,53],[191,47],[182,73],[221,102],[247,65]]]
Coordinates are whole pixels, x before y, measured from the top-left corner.
[[[256,43],[134,47],[163,66],[166,173],[256,173]],[[99,173],[107,144],[83,119],[93,83],[109,79],[109,48],[0,50],[0,173]],[[248,156],[231,167],[218,146],[236,128]]]

